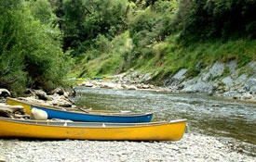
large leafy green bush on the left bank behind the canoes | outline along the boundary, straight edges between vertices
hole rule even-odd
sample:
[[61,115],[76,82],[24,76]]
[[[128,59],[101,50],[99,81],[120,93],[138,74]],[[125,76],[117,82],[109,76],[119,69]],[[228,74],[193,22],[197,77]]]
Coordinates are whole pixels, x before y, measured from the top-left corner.
[[13,95],[28,87],[50,91],[64,85],[62,80],[69,71],[60,31],[35,21],[26,3],[17,8],[11,3],[0,7],[0,86]]

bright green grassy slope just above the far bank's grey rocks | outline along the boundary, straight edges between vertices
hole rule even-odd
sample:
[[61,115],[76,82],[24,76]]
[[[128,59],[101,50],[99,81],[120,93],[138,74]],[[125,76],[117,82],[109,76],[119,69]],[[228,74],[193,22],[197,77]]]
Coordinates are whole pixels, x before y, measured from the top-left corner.
[[240,69],[256,56],[256,41],[238,40],[222,43],[221,40],[217,40],[184,46],[176,44],[175,39],[172,35],[165,42],[134,50],[134,46],[128,44],[128,33],[119,35],[112,41],[109,53],[103,53],[84,62],[83,70],[87,72],[83,75],[93,78],[135,69],[141,73],[151,72],[154,81],[161,83],[180,69],[188,69],[186,77],[191,78],[198,75],[201,69],[213,65],[215,61],[228,62],[236,59],[237,68]]

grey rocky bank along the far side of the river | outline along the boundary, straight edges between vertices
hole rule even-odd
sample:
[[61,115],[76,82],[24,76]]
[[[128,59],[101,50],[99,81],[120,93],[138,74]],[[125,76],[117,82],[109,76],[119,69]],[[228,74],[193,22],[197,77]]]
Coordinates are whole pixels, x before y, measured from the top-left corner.
[[128,72],[82,81],[79,85],[93,88],[127,90],[153,90],[171,93],[206,93],[227,99],[256,102],[256,61],[249,62],[243,69],[238,68],[236,59],[228,62],[215,62],[212,66],[200,69],[195,77],[187,78],[188,69],[180,69],[166,76],[161,87],[149,82],[157,80],[159,72],[143,73],[130,69]]

